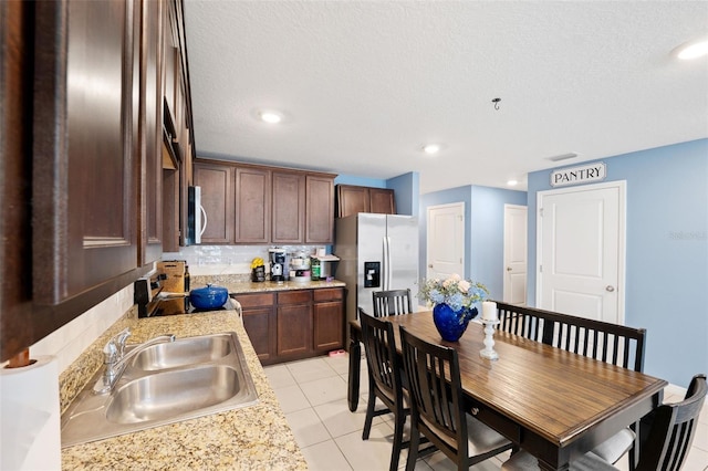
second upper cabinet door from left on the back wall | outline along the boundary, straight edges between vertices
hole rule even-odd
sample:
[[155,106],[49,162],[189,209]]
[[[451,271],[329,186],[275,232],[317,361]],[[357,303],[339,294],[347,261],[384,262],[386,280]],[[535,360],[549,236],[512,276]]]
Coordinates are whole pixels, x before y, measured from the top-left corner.
[[236,169],[236,242],[270,242],[270,170]]

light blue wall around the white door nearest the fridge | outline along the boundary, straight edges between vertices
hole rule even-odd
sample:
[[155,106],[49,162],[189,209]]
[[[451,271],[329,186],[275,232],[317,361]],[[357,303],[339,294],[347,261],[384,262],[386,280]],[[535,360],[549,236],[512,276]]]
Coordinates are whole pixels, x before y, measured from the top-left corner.
[[420,276],[427,265],[427,209],[429,206],[465,203],[465,278],[487,285],[491,297],[503,296],[504,205],[525,205],[525,191],[465,186],[420,197]]

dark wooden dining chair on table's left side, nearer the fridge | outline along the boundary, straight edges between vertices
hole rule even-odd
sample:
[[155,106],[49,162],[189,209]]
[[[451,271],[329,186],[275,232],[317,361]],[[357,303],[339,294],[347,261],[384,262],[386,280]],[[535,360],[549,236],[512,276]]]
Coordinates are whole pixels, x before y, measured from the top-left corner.
[[[366,314],[361,307],[358,317],[362,323],[362,337],[368,366],[368,405],[362,440],[368,440],[374,417],[393,414],[394,446],[391,452],[389,470],[395,471],[398,469],[400,450],[409,444],[403,441],[403,427],[406,417],[410,415],[410,408],[405,407],[404,404],[403,366],[400,358],[396,355],[394,326],[391,322]],[[376,398],[386,408],[375,410]]]

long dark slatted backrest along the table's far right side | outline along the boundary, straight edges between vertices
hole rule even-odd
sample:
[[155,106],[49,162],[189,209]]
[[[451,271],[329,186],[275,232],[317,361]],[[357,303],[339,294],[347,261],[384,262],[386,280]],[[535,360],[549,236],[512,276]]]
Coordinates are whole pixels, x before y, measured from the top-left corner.
[[498,329],[635,371],[644,369],[644,328],[499,302],[497,307]]

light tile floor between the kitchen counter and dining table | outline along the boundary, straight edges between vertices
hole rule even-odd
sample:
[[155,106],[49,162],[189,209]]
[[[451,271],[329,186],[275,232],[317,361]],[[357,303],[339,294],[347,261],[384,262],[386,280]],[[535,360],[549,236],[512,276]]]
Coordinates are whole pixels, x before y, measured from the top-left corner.
[[[266,374],[278,396],[295,440],[311,470],[387,470],[393,443],[393,416],[374,419],[369,439],[362,440],[368,384],[366,362],[362,362],[358,408],[350,412],[346,401],[348,356],[317,357],[267,366]],[[669,386],[666,401],[684,398],[685,389]],[[408,453],[400,453],[399,469],[405,469]],[[509,452],[470,468],[476,471],[499,470]],[[617,467],[626,470],[626,458]],[[416,470],[452,470],[452,462],[436,452],[416,463]],[[708,471],[708,407],[701,411],[694,446],[684,471]]]

